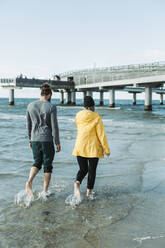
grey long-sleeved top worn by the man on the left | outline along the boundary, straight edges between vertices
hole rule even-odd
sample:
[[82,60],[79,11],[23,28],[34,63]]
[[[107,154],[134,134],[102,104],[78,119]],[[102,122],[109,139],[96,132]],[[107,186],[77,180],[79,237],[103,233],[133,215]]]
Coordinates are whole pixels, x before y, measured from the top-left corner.
[[27,129],[30,141],[53,141],[60,144],[56,106],[49,101],[35,101],[27,107]]

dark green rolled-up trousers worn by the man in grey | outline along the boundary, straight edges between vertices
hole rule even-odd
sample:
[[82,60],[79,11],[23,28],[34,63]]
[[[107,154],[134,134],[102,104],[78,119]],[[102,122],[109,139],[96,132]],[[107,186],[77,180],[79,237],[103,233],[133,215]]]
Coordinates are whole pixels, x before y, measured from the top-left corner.
[[33,166],[40,170],[43,165],[44,173],[52,173],[52,163],[55,154],[54,143],[32,141],[32,151],[34,158]]

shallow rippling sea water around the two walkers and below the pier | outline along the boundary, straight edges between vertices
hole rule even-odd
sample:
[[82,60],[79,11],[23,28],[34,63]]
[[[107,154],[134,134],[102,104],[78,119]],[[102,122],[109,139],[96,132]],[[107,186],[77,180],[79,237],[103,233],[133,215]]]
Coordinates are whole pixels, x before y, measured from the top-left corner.
[[26,130],[27,105],[36,99],[0,99],[0,247],[1,248],[164,248],[165,247],[165,105],[153,101],[108,101],[96,112],[103,119],[111,150],[99,160],[94,192],[73,196],[78,171],[72,150],[75,115],[83,109],[59,104],[62,150],[55,154],[49,195],[43,170],[33,181],[34,198],[25,193],[33,164]]

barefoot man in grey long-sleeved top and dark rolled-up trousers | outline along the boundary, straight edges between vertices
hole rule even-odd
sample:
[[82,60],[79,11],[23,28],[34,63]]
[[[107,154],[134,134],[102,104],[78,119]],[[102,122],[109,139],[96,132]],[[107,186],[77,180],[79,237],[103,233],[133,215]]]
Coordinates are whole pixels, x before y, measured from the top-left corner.
[[[32,182],[36,174],[44,166],[44,194],[47,193],[54,159],[54,142],[56,152],[60,152],[59,130],[56,115],[56,106],[50,103],[52,90],[45,83],[41,88],[41,98],[27,107],[27,129],[30,148],[33,151],[34,164],[26,182],[26,193],[33,196]],[[54,141],[54,142],[53,142]]]

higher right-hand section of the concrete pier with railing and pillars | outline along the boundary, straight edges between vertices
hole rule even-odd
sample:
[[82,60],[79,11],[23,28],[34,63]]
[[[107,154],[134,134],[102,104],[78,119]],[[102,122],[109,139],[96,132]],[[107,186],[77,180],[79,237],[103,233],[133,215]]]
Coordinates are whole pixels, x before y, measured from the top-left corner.
[[104,92],[109,92],[109,106],[114,107],[117,90],[132,93],[133,104],[136,104],[136,94],[145,92],[145,110],[152,110],[153,91],[160,94],[160,104],[163,104],[165,62],[93,68],[66,72],[60,76],[63,79],[72,78],[75,90],[84,92],[84,96],[92,95],[94,91],[100,92],[100,105],[103,105]]

